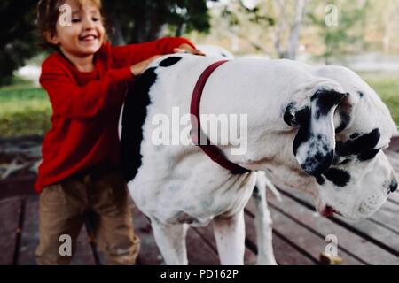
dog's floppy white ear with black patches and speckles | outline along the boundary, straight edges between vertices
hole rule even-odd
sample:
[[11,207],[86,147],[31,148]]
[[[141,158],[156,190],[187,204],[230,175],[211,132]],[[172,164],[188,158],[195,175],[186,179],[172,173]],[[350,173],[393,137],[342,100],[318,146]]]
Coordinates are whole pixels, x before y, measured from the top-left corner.
[[293,141],[293,154],[301,168],[310,175],[325,172],[332,164],[335,148],[334,111],[348,94],[318,89],[309,103],[295,108],[288,104],[284,120],[289,126],[299,126]]

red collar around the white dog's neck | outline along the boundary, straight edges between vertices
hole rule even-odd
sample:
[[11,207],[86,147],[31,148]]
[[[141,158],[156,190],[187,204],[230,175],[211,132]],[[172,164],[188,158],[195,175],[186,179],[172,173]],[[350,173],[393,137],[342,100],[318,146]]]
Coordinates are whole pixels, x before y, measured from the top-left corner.
[[[249,170],[227,160],[226,157],[224,157],[222,150],[216,147],[214,144],[211,144],[208,138],[205,145],[200,143],[201,134],[205,136],[205,134],[201,130],[200,124],[200,101],[202,91],[204,90],[205,84],[207,83],[207,79],[209,78],[209,76],[215,71],[218,66],[223,65],[227,61],[228,60],[218,61],[208,66],[204,73],[200,75],[200,79],[198,79],[197,84],[195,85],[194,91],[192,92],[192,105],[190,108],[190,111],[192,113],[191,137],[192,142],[199,145],[200,149],[202,149],[207,154],[207,156],[210,157],[215,163],[229,170],[232,174],[242,174],[249,172]],[[196,120],[193,120],[193,117],[195,117]]]

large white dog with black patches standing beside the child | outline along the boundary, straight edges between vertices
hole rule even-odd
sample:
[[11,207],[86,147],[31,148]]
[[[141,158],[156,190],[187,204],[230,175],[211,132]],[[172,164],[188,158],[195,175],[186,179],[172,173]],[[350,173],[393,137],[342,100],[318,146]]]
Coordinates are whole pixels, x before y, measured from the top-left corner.
[[[369,217],[396,189],[395,173],[380,150],[395,133],[395,123],[372,88],[343,67],[234,59],[215,69],[203,88],[200,122],[204,126],[211,114],[245,115],[239,140],[229,136],[218,147],[227,160],[251,172],[232,174],[199,146],[178,143],[188,131],[176,134],[176,128],[163,125],[172,145],[154,142],[160,118],[173,124],[176,108],[180,115],[190,113],[197,80],[220,59],[160,57],[137,79],[124,106],[123,171],[137,207],[151,219],[167,264],[187,264],[187,227],[212,220],[221,264],[243,264],[243,211],[256,171],[268,172],[280,187],[308,191],[325,216]],[[190,124],[190,119],[179,121]],[[212,126],[202,130],[218,144]],[[234,154],[235,149],[244,150]],[[261,213],[258,264],[275,264],[264,190],[254,193]]]

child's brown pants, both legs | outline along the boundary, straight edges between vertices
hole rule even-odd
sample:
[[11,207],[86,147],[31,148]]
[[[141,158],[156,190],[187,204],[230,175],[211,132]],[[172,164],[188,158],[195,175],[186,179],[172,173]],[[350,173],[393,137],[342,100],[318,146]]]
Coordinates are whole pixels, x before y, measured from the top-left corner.
[[[104,172],[97,166],[67,180],[46,187],[40,195],[38,264],[69,264],[85,213],[98,216],[95,235],[108,264],[135,264],[140,241],[134,233],[128,192],[120,172]],[[59,252],[61,235],[72,240],[72,256]]]

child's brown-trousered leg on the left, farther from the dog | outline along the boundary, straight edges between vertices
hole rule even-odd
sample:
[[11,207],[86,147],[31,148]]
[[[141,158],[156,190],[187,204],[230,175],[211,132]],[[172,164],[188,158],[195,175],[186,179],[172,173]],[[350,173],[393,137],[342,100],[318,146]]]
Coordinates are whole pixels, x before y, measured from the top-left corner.
[[[86,188],[78,180],[67,180],[43,189],[40,195],[40,243],[36,249],[37,264],[70,263],[86,208]],[[61,237],[62,235],[66,236]],[[69,239],[72,256],[68,256]]]

